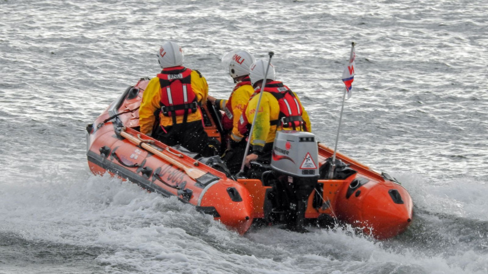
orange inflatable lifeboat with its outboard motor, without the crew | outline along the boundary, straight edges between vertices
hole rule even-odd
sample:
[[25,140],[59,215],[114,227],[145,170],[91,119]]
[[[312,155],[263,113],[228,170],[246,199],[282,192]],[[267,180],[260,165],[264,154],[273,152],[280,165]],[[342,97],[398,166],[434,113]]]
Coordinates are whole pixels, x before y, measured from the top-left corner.
[[[87,126],[87,158],[94,174],[109,172],[163,196],[196,206],[230,229],[244,234],[251,225],[350,224],[378,239],[405,231],[413,203],[407,190],[317,143],[309,132],[280,131],[270,165],[252,163],[234,178],[218,156],[202,158],[170,147],[138,131],[139,106],[149,79],[127,88]],[[203,106],[207,134],[221,139],[220,113]],[[217,122],[217,123],[216,123]]]

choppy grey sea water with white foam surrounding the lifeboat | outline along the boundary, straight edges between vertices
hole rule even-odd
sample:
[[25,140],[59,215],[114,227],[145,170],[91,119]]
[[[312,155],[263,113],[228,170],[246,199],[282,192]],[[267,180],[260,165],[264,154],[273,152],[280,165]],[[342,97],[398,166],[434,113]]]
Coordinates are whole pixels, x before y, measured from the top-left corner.
[[[488,272],[488,2],[2,0],[0,273]],[[415,216],[379,242],[350,230],[239,236],[176,199],[94,176],[85,126],[128,86],[184,64],[227,97],[221,57],[273,51],[312,130],[396,177]]]

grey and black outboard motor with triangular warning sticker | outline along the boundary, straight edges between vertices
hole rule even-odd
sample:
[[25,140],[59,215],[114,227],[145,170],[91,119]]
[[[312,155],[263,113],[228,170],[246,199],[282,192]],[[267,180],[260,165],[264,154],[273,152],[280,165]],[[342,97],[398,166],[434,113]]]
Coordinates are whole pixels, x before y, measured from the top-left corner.
[[281,204],[285,222],[291,230],[305,231],[308,197],[319,179],[318,154],[314,134],[295,130],[276,132],[271,169],[277,180],[272,185],[275,194],[271,196],[274,196],[275,204]]

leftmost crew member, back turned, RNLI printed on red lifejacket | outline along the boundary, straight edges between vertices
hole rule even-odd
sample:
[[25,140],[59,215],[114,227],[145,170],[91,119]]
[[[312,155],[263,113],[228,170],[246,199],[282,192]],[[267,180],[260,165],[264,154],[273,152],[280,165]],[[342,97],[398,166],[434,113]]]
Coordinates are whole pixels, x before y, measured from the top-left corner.
[[202,156],[217,154],[208,138],[200,105],[206,102],[208,84],[196,70],[183,67],[183,51],[166,42],[158,51],[163,69],[147,84],[139,109],[141,132],[168,146],[181,145]]

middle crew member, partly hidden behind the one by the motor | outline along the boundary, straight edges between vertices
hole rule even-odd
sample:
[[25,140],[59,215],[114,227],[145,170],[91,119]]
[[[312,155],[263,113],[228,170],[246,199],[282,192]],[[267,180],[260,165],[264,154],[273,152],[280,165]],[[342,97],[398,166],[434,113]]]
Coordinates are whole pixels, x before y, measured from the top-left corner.
[[212,96],[208,96],[208,100],[217,109],[224,111],[222,126],[225,130],[224,140],[227,144],[222,159],[230,172],[235,174],[239,171],[244,158],[246,142],[244,136],[239,132],[238,124],[239,118],[254,92],[249,78],[249,67],[255,59],[244,50],[236,50],[224,56],[223,61],[229,63],[229,74],[236,85],[228,100],[215,99]]

